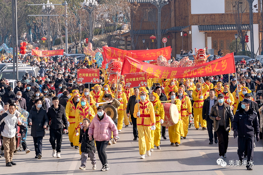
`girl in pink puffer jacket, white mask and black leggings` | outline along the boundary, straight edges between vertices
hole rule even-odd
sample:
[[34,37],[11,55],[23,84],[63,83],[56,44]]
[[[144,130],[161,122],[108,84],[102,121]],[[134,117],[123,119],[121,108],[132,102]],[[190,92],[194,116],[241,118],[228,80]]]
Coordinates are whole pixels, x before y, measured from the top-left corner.
[[105,113],[103,106],[98,106],[98,112],[89,125],[89,139],[94,138],[98,156],[102,163],[101,171],[109,169],[106,148],[111,139],[111,132],[117,140],[118,130],[113,120]]

